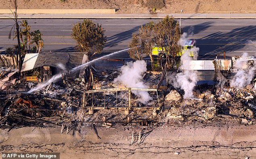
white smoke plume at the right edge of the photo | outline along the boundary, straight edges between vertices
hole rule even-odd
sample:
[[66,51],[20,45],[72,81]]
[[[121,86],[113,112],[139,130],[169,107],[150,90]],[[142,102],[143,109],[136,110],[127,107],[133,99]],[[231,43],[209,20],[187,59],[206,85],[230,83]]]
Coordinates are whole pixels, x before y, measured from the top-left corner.
[[248,66],[246,69],[241,69],[243,63],[248,61],[245,59],[246,57],[248,57],[248,53],[243,53],[242,59],[236,61],[235,67],[238,71],[235,74],[235,78],[231,80],[230,86],[243,88],[251,83],[252,78],[254,77],[254,71],[256,70],[256,65],[253,63],[252,66]]

